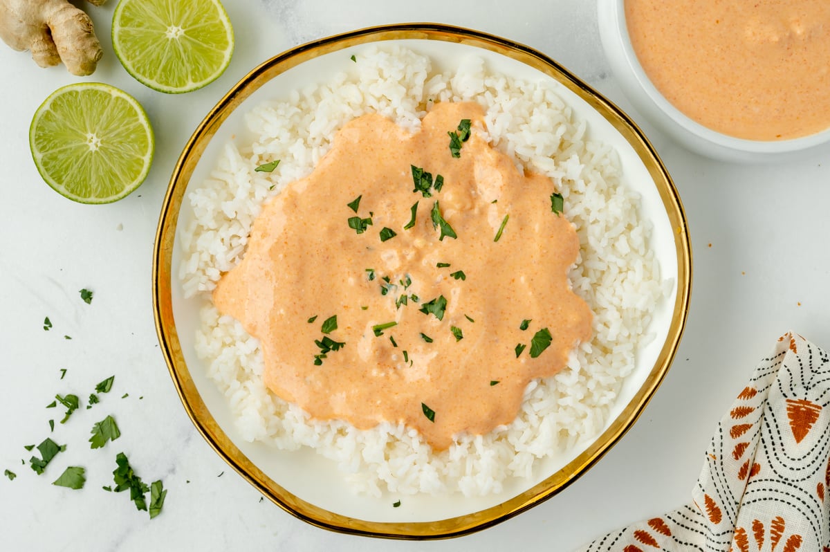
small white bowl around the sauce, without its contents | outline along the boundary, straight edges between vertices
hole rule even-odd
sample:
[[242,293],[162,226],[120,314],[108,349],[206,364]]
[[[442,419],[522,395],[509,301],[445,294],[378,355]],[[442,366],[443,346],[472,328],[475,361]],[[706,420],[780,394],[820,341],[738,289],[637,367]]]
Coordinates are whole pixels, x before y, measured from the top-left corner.
[[793,159],[830,142],[830,129],[802,138],[749,140],[721,134],[684,115],[646,76],[628,36],[625,0],[598,0],[599,35],[623,93],[646,119],[692,151],[725,161],[769,162]]

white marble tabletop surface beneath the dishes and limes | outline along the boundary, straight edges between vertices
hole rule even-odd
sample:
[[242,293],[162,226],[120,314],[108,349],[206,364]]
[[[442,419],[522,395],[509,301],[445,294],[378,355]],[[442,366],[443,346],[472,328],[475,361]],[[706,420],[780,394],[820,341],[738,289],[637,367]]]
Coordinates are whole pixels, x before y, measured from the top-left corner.
[[[755,362],[786,330],[830,344],[830,164],[825,148],[787,164],[710,161],[667,141],[629,110],[603,58],[588,0],[236,0],[237,36],[227,72],[188,95],[164,95],[129,77],[109,34],[115,2],[89,7],[105,58],[87,80],[134,95],[154,125],[157,151],[146,183],[100,207],[72,203],[41,182],[27,144],[46,95],[82,79],[42,70],[0,46],[0,534],[3,550],[572,550],[618,525],[689,498],[710,432]],[[456,540],[369,540],[316,529],[268,501],[203,441],[183,412],[154,332],[150,262],[159,206],[183,144],[207,110],[268,56],[370,25],[433,21],[523,42],[554,57],[629,111],[662,155],[685,203],[694,251],[691,311],[662,388],[635,427],[558,496],[489,530]],[[91,305],[81,288],[95,291]],[[48,316],[52,330],[42,330]],[[65,340],[70,335],[71,340]],[[61,380],[61,369],[66,377]],[[55,393],[85,398],[115,374],[111,393],[66,425],[47,421]],[[121,398],[124,393],[129,397]],[[103,450],[86,444],[106,414],[122,435]],[[23,446],[67,443],[36,476]],[[124,451],[145,481],[169,490],[149,520],[110,485]],[[51,486],[84,466],[81,491]]]

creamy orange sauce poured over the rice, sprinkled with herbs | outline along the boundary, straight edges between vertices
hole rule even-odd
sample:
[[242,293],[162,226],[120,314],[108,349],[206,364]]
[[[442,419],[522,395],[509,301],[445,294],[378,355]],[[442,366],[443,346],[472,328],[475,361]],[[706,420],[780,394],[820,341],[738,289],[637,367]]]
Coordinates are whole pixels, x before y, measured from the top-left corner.
[[[591,312],[567,280],[579,240],[551,212],[554,183],[519,173],[475,133],[460,158],[451,155],[447,132],[462,119],[480,127],[482,115],[476,104],[435,105],[417,134],[364,115],[339,131],[309,177],[266,203],[244,260],[213,300],[260,340],[264,380],[278,396],[313,418],[362,429],[404,423],[441,450],[462,432],[510,423],[530,380],[556,374],[588,340]],[[413,193],[411,165],[441,174],[442,189]],[[358,196],[355,213],[349,203]],[[436,203],[456,239],[441,240],[433,227]],[[355,216],[372,225],[358,234],[348,224]],[[383,228],[396,235],[382,242]],[[396,305],[404,295],[407,304]],[[440,297],[442,320],[421,311]],[[324,335],[334,315],[337,329]],[[531,358],[543,329],[552,343]],[[315,365],[324,336],[343,346]],[[517,344],[526,345],[518,358]]]

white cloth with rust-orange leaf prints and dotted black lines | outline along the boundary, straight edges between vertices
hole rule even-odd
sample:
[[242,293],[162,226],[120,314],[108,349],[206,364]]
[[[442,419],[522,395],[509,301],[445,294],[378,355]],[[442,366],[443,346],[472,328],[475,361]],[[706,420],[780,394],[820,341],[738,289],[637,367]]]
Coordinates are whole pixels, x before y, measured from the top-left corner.
[[786,334],[720,420],[692,502],[580,552],[830,552],[830,357]]

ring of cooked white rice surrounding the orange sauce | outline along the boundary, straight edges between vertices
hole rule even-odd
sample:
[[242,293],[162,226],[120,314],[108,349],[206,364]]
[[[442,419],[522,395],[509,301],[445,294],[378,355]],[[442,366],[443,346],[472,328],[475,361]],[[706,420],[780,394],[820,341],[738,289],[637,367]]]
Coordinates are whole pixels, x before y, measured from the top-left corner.
[[[647,326],[662,296],[648,247],[651,228],[640,218],[637,194],[620,183],[616,152],[589,139],[554,85],[490,74],[476,58],[436,74],[429,59],[398,47],[370,47],[356,59],[347,61],[349,73],[251,110],[252,143],[228,143],[211,177],[188,193],[193,220],[180,234],[179,276],[186,296],[199,294],[206,302],[198,354],[243,437],[288,450],[312,447],[337,463],[355,491],[499,492],[511,477],[532,476],[540,458],[603,428],[635,351],[651,339]],[[529,384],[510,426],[460,436],[445,452],[433,453],[417,432],[400,425],[361,431],[312,421],[265,388],[257,340],[236,320],[218,315],[210,291],[240,261],[261,203],[310,173],[345,122],[378,112],[417,129],[432,102],[470,100],[486,107],[491,144],[521,167],[553,178],[564,196],[580,242],[570,281],[593,310],[593,339],[574,351],[562,372]],[[273,159],[281,160],[274,173],[254,172]]]

